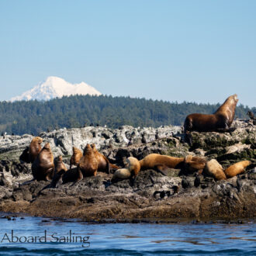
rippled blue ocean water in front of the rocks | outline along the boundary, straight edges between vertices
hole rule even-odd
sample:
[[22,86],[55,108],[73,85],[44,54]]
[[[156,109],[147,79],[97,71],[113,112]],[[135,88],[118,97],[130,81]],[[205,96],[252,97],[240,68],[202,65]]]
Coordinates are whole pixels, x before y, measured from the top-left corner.
[[254,222],[92,224],[5,216],[1,255],[256,255]]

